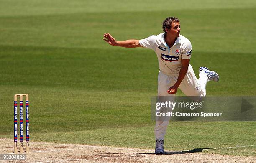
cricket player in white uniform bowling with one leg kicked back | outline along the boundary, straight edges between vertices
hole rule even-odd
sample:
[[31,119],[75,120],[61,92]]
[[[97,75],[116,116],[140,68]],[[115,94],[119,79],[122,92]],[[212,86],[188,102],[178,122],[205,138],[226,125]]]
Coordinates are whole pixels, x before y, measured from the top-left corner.
[[[190,41],[180,34],[179,19],[169,17],[164,20],[163,31],[141,40],[116,41],[109,33],[104,33],[104,40],[112,46],[125,48],[144,47],[155,51],[159,62],[158,96],[174,96],[179,88],[186,96],[205,97],[206,84],[213,80],[218,82],[216,72],[200,67],[199,79],[189,64],[192,56]],[[169,120],[156,121],[154,128],[156,154],[164,154],[164,135]]]

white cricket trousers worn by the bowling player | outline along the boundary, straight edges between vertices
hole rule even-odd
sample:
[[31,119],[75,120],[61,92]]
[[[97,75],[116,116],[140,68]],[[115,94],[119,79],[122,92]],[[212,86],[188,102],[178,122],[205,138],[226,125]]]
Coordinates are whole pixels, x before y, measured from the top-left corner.
[[[175,84],[177,79],[178,76],[168,76],[160,70],[158,74],[158,96],[174,96],[174,94],[168,94],[166,91]],[[205,97],[207,80],[207,74],[203,71],[200,71],[199,79],[197,79],[192,66],[189,64],[187,74],[179,85],[179,89],[186,96]],[[154,128],[156,140],[164,140],[169,120],[170,117],[165,117],[163,121],[156,121]]]

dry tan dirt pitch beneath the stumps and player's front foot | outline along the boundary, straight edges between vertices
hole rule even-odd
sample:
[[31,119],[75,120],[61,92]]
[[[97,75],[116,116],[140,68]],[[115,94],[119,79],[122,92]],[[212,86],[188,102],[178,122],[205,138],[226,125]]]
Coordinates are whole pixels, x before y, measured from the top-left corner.
[[[19,150],[19,149],[18,149]],[[25,150],[25,148],[24,148]],[[0,154],[13,153],[13,140],[0,138]],[[169,151],[166,155],[154,155],[154,150],[115,148],[105,146],[31,142],[31,152],[26,163],[255,163],[256,157],[209,155]],[[1,161],[0,161],[1,162]],[[4,161],[18,162],[18,161]]]

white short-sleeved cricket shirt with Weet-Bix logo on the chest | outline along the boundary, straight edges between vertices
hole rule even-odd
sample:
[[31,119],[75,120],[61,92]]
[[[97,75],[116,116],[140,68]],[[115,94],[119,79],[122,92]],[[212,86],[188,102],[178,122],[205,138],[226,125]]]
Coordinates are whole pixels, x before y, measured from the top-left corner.
[[182,35],[177,37],[174,45],[169,48],[164,40],[164,34],[152,35],[141,39],[140,45],[151,48],[156,52],[159,69],[166,75],[178,76],[181,69],[181,59],[190,59],[192,45],[190,41]]

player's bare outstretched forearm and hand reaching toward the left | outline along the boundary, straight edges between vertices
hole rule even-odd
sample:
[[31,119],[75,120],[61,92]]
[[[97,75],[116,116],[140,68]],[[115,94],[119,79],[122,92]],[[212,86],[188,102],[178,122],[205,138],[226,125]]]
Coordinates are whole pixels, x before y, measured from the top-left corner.
[[115,38],[113,38],[113,36],[111,36],[109,33],[104,33],[103,40],[112,46],[121,46],[125,48],[143,47],[140,45],[138,40],[116,41]]

